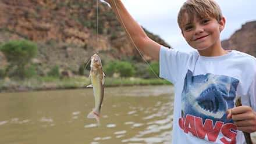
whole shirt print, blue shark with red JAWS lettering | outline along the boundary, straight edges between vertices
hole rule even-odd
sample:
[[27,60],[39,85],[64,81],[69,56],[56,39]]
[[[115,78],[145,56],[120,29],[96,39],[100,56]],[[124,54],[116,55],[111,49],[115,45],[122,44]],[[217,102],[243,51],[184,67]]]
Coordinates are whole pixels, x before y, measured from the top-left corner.
[[186,134],[216,143],[236,143],[236,125],[227,120],[234,107],[239,80],[225,75],[187,72],[182,92],[179,127]]

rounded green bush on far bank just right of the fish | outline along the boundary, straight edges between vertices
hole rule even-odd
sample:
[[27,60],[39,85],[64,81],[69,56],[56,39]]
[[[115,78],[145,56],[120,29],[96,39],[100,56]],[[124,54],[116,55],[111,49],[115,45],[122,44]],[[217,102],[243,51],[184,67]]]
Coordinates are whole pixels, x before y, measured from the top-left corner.
[[121,77],[131,77],[134,75],[134,67],[129,62],[114,61],[106,65],[106,75],[119,73]]

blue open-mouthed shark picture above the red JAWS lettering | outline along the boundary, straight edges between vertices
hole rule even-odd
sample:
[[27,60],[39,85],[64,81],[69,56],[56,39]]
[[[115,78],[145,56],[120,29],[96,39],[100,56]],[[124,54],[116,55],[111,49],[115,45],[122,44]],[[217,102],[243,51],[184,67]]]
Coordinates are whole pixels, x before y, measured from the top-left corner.
[[182,92],[182,114],[206,119],[227,121],[226,110],[234,107],[239,80],[225,75],[195,75],[188,70]]

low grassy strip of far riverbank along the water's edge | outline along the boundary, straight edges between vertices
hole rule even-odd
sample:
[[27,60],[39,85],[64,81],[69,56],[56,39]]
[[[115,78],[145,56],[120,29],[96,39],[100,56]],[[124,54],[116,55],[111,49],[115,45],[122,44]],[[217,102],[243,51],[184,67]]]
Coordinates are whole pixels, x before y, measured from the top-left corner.
[[[26,80],[5,78],[0,80],[0,92],[42,91],[52,89],[85,88],[90,84],[88,77],[76,76],[71,78],[34,77]],[[130,85],[166,85],[170,82],[162,79],[143,78],[106,78],[105,87],[119,87]]]

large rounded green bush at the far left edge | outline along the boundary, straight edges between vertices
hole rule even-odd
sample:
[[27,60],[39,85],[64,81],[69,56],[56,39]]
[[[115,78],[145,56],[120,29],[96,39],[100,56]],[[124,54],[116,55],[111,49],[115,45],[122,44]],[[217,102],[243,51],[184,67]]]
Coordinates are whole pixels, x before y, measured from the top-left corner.
[[6,73],[9,73],[9,70],[15,68],[16,76],[20,78],[25,77],[26,65],[29,64],[31,59],[37,55],[37,45],[26,40],[13,40],[6,42],[1,46],[0,50],[9,62]]

